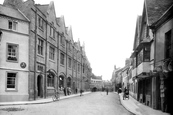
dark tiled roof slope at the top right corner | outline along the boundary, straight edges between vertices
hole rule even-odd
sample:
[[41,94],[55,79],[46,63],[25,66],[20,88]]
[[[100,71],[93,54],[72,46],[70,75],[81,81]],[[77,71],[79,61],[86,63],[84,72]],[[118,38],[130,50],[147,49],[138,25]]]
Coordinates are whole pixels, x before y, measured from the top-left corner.
[[148,24],[156,22],[173,4],[173,0],[145,0]]

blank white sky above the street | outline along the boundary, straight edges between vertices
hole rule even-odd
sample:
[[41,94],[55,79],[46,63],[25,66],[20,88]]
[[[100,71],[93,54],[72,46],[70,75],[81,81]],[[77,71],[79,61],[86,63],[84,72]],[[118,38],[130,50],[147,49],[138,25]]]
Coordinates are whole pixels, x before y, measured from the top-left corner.
[[[49,4],[53,0],[34,1]],[[72,27],[73,40],[85,44],[92,73],[103,80],[111,79],[114,65],[124,67],[133,52],[136,19],[143,4],[144,0],[54,0],[56,16],[63,15],[65,25]]]

